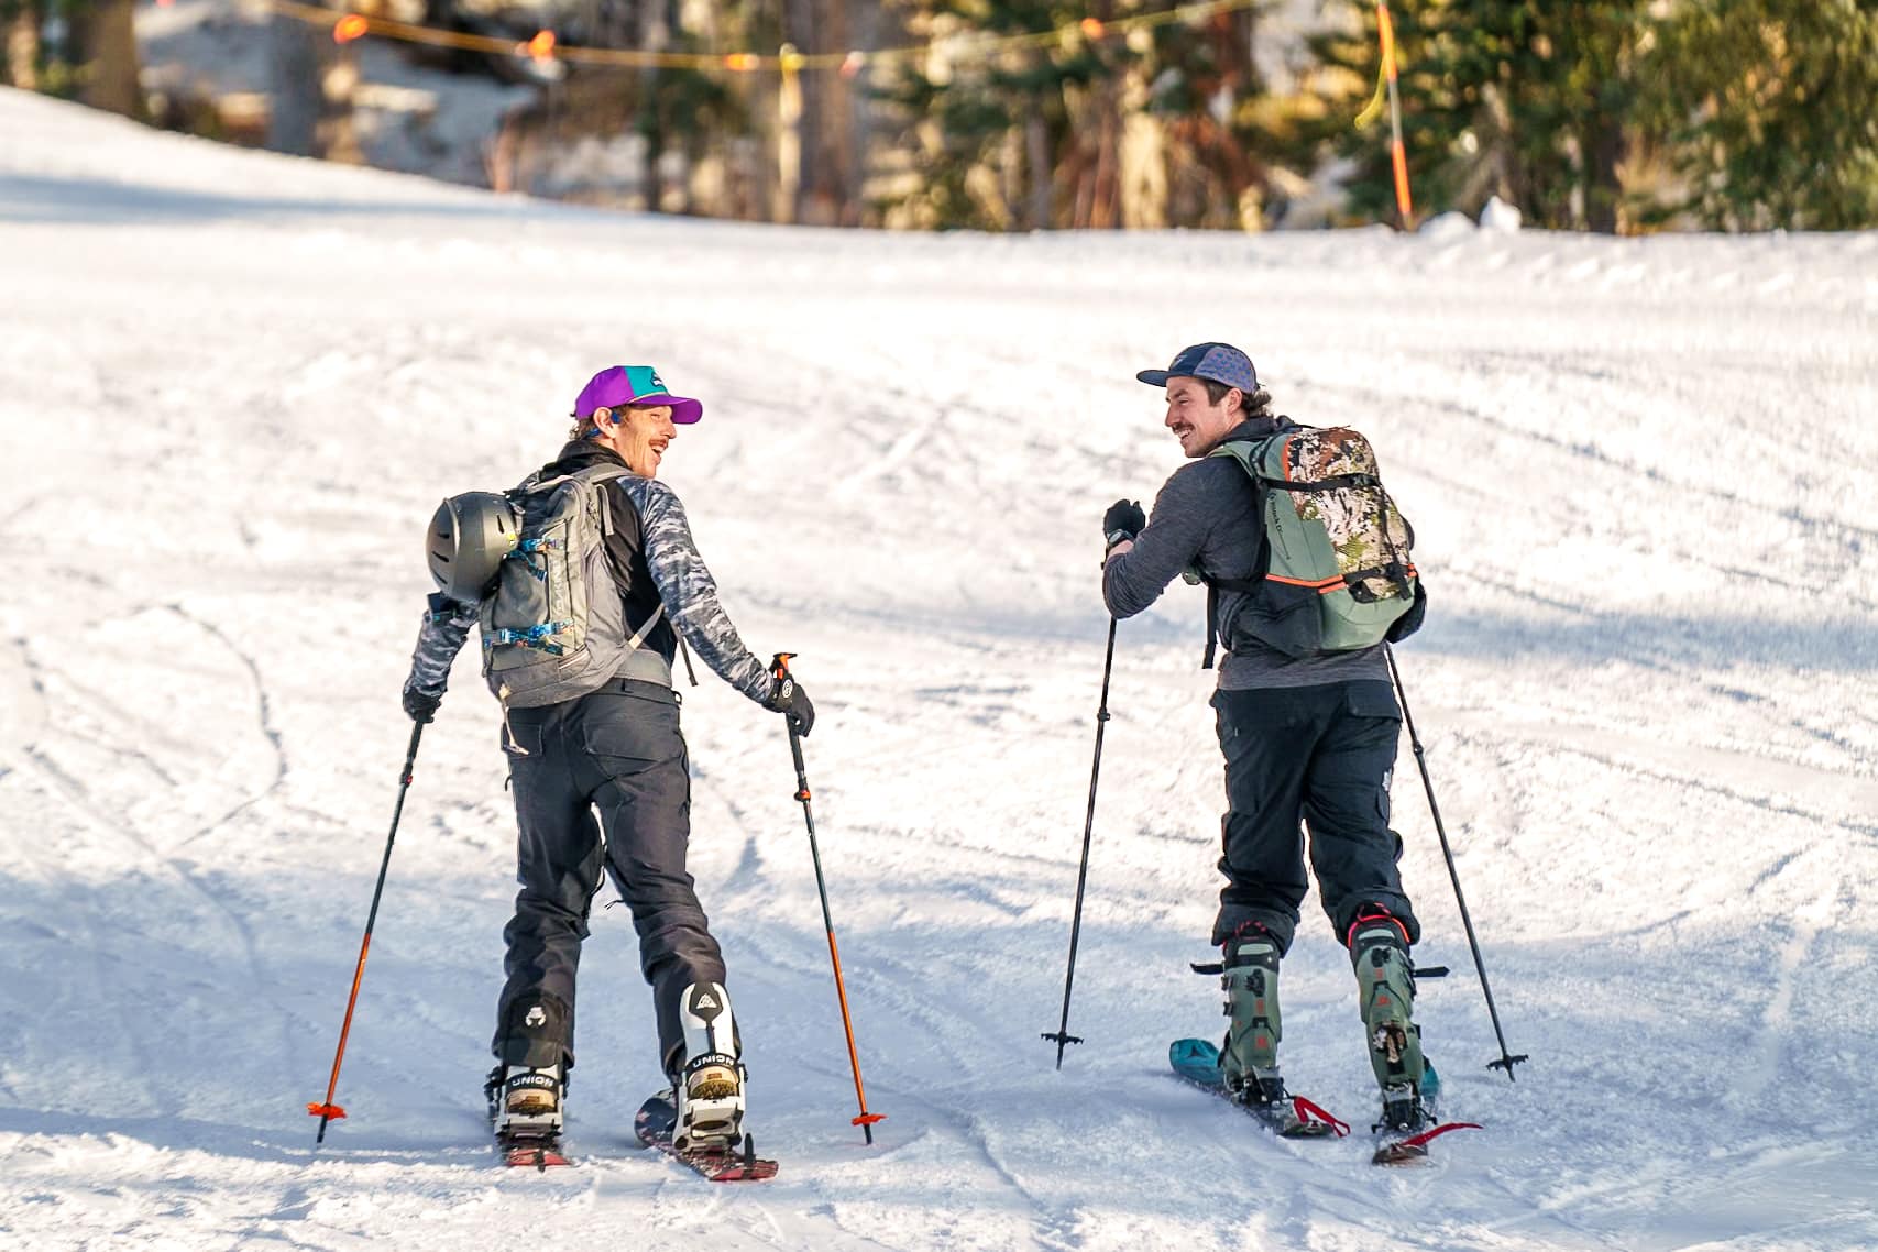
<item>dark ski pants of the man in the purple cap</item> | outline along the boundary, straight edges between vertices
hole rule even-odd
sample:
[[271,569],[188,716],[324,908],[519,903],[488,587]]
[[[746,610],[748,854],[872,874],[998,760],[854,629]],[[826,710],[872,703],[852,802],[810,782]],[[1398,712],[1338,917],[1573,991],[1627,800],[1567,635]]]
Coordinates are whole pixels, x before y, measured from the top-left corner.
[[522,890],[503,931],[509,980],[496,1012],[496,1057],[573,1066],[575,972],[605,865],[633,910],[659,1021],[659,1062],[670,1068],[684,1051],[685,985],[725,980],[723,954],[685,873],[691,775],[678,695],[616,678],[577,700],[511,710],[503,747]]

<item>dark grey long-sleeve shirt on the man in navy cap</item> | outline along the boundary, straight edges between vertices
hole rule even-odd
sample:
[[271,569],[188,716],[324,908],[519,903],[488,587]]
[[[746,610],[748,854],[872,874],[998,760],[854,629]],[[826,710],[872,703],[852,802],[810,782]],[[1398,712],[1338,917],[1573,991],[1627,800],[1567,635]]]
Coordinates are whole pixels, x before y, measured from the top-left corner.
[[[1273,419],[1253,419],[1226,434],[1228,439],[1258,437],[1277,430]],[[1202,456],[1174,471],[1155,497],[1147,527],[1134,546],[1102,567],[1102,599],[1108,612],[1132,618],[1161,599],[1181,571],[1196,567],[1208,578],[1251,578],[1266,541],[1253,481],[1226,456]],[[1352,679],[1388,681],[1382,648],[1288,657],[1266,648],[1234,623],[1247,604],[1243,591],[1219,591],[1223,691],[1253,687],[1316,687]]]

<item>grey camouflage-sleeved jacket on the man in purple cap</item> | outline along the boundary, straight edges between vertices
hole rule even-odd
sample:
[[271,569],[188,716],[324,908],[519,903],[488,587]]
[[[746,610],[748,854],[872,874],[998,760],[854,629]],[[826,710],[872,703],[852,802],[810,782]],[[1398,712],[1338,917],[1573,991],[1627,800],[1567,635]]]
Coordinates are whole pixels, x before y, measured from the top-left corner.
[[[567,456],[586,458],[599,449],[565,449]],[[610,456],[610,454],[608,454]],[[558,462],[558,464],[563,464]],[[685,507],[669,486],[655,479],[627,475],[618,481],[620,499],[627,505],[629,527],[616,527],[616,533],[635,533],[637,542],[614,552],[616,578],[622,582],[650,586],[657,589],[665,604],[667,619],[678,627],[691,649],[723,681],[731,683],[746,696],[762,704],[770,698],[776,679],[738,636],[731,618],[717,601],[717,582],[704,557],[699,556],[691,539],[691,524],[685,520]],[[616,512],[616,516],[622,516]],[[631,603],[631,601],[629,601]],[[470,638],[481,614],[479,604],[458,604],[443,595],[432,595],[423,627],[417,633],[417,648],[411,653],[411,674],[406,679],[408,691],[423,691],[439,696],[449,683],[451,664]],[[661,623],[663,631],[663,623]],[[663,642],[655,633],[648,644]],[[669,644],[661,648],[670,659]]]

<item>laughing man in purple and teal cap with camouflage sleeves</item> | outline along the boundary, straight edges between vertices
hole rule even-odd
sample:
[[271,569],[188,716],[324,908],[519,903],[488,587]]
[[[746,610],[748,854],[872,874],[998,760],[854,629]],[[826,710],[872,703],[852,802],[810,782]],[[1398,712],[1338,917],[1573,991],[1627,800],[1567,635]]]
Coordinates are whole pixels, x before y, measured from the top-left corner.
[[[672,661],[680,642],[689,644],[719,678],[785,713],[800,734],[815,725],[815,706],[798,683],[772,678],[744,646],[717,603],[717,584],[691,539],[684,505],[657,481],[678,426],[702,413],[704,405],[674,396],[652,366],[601,370],[575,400],[567,445],[509,494],[511,501],[541,499],[560,482],[599,492],[603,516],[592,526],[601,539],[586,546],[588,569],[599,573],[584,582],[603,586],[588,586],[592,614],[580,651],[601,657],[601,672],[577,674],[571,691],[554,685],[562,649],[543,633],[567,623],[496,629],[490,606],[507,595],[498,584],[481,603],[432,597],[404,685],[406,711],[430,721],[451,663],[477,623],[486,674],[496,649],[516,653],[516,664],[550,672],[545,691],[552,702],[511,700],[507,687],[498,689],[522,884],[503,931],[507,984],[496,1012],[498,1066],[488,1083],[490,1113],[505,1143],[552,1141],[560,1134],[565,1074],[575,1062],[575,970],[601,867],[610,871],[639,931],[680,1145],[734,1147],[742,1134],[744,1066],[723,987],[723,952],[685,871],[691,779]],[[578,546],[556,539],[533,541],[533,550],[554,544]],[[507,556],[498,563],[513,565]],[[556,576],[565,578],[565,571]],[[528,567],[516,576],[526,588]],[[453,586],[441,573],[438,578]],[[554,659],[524,653],[528,646]]]

